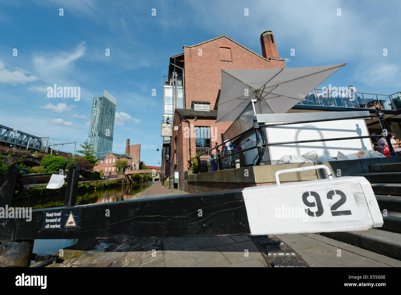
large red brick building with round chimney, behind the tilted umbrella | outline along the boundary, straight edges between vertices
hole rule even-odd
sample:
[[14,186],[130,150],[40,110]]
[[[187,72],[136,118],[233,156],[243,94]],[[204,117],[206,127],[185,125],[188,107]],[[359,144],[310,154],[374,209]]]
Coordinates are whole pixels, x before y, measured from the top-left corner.
[[[164,122],[168,117],[172,123],[172,137],[171,141],[163,138],[162,167],[165,175],[174,176],[178,172],[179,189],[184,189],[184,171],[189,168],[189,155],[203,153],[214,147],[216,142],[221,144],[221,135],[232,123],[215,122],[221,70],[286,66],[284,59],[278,56],[271,31],[262,33],[260,42],[262,56],[223,35],[196,45],[184,46],[184,53],[170,57],[165,84],[173,85],[174,102],[172,112],[166,111],[169,110],[166,108],[169,98],[164,94],[163,116]],[[183,103],[180,102],[178,91],[174,90],[174,76],[176,89],[180,90],[180,86],[183,88]],[[169,87],[166,85],[164,92]],[[184,108],[177,107],[180,105]]]

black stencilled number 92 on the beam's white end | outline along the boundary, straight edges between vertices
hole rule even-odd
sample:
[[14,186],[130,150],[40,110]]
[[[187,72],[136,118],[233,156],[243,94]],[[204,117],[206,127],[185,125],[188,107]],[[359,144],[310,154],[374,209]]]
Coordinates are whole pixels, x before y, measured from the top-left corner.
[[[339,195],[340,199],[336,201],[330,208],[331,215],[332,216],[343,216],[343,215],[352,215],[351,210],[343,210],[343,211],[337,211],[338,208],[340,208],[341,205],[343,205],[347,199],[345,193],[342,191],[336,189],[336,190],[331,190],[327,193],[327,198],[332,200],[334,195]],[[310,202],[308,201],[308,197],[312,196],[315,198],[315,201]],[[306,191],[302,194],[302,201],[304,201],[304,204],[310,208],[317,207],[316,212],[312,212],[310,209],[305,209],[306,214],[308,214],[311,217],[319,217],[323,215],[323,206],[322,206],[322,200],[320,199],[320,195],[316,193],[316,191]]]

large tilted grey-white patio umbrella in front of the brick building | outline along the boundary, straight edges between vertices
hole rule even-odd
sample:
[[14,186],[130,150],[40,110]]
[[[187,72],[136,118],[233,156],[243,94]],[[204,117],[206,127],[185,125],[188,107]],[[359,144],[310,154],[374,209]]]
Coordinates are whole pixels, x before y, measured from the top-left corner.
[[256,114],[286,113],[344,65],[346,63],[261,70],[222,69],[216,122],[234,121],[251,100],[256,100]]

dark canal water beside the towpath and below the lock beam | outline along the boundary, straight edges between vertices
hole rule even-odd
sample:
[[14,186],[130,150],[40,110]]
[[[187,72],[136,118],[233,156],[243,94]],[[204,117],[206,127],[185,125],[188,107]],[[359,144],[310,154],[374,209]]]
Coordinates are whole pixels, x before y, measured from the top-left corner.
[[[103,190],[78,191],[77,205],[123,201],[146,189],[154,182],[123,185]],[[46,196],[13,202],[14,207],[33,209],[53,208],[64,205],[64,196]],[[60,249],[76,244],[78,240],[35,240],[33,252],[38,255],[55,254]],[[33,262],[32,262],[33,263]]]

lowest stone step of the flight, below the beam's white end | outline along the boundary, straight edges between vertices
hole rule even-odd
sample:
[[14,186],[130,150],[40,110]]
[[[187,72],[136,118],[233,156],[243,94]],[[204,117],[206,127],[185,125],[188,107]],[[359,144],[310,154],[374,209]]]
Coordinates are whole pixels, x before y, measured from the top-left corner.
[[352,232],[323,232],[321,235],[401,260],[401,232],[370,228]]

